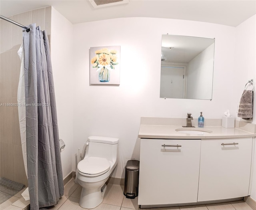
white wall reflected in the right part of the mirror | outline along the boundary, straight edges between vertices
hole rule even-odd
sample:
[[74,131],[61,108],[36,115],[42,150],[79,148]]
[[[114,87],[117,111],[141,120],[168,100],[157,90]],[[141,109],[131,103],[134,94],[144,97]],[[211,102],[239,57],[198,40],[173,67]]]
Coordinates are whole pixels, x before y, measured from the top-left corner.
[[187,98],[210,99],[212,96],[212,70],[214,44],[188,63]]

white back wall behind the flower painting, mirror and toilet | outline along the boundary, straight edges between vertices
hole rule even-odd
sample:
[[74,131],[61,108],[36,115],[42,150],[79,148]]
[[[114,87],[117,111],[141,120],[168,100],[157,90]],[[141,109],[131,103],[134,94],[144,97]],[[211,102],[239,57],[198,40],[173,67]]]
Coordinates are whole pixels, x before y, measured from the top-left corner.
[[[161,38],[167,33],[215,38],[212,101],[160,99]],[[236,104],[230,103],[235,84],[229,82],[234,80],[234,27],[161,18],[118,18],[75,24],[74,40],[73,158],[89,135],[118,137],[120,157],[113,177],[124,178],[127,160],[139,159],[140,117],[186,118],[190,112],[197,119],[202,111],[206,120],[218,119],[226,109],[236,114]],[[120,85],[90,86],[89,48],[115,45],[121,46]]]

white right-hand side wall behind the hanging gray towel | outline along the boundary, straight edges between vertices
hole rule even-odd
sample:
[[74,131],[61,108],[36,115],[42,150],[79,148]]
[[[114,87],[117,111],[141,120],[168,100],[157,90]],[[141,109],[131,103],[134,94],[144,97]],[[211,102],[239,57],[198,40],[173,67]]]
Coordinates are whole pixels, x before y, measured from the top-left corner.
[[[234,93],[232,103],[240,101],[244,85],[250,79],[256,84],[256,15],[236,27],[236,49],[234,59]],[[235,108],[235,107],[233,107]],[[237,115],[236,115],[237,116]],[[238,118],[240,119],[240,118]],[[242,120],[242,119],[241,119]],[[243,121],[243,120],[242,120]],[[252,123],[256,124],[256,103]],[[254,151],[256,153],[256,149]],[[251,197],[256,200],[256,154],[254,157],[254,174]]]

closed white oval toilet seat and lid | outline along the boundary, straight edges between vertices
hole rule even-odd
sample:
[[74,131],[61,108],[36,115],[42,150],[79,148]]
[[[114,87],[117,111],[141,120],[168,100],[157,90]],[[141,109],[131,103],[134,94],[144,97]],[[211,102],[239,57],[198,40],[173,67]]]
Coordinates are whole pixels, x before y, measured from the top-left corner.
[[78,172],[83,176],[100,176],[110,169],[106,158],[88,157],[78,162]]

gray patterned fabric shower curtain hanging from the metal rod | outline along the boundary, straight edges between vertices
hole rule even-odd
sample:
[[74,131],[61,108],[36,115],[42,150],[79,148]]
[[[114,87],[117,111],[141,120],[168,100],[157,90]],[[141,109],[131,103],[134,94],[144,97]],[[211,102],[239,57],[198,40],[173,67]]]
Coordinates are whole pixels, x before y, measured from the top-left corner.
[[26,149],[30,209],[52,206],[64,193],[50,47],[36,24],[23,32]]

